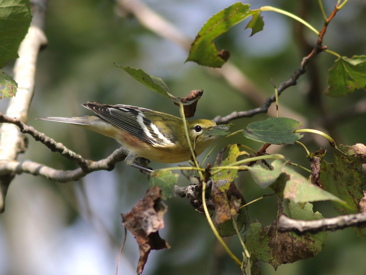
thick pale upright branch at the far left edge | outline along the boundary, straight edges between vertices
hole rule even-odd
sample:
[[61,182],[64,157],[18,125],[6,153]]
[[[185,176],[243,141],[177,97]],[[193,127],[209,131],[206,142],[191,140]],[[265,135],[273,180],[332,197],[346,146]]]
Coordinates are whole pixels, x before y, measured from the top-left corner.
[[[18,83],[16,97],[10,99],[6,114],[17,117],[23,122],[27,121],[28,111],[34,91],[34,77],[36,73],[37,56],[41,46],[47,43],[43,32],[45,10],[48,0],[32,0],[33,19],[28,33],[20,44],[14,66],[14,80]],[[14,161],[19,152],[25,150],[26,142],[18,127],[11,124],[3,124],[0,129],[0,159]],[[8,185],[14,176],[4,175],[0,178],[0,212],[4,211],[5,196]]]

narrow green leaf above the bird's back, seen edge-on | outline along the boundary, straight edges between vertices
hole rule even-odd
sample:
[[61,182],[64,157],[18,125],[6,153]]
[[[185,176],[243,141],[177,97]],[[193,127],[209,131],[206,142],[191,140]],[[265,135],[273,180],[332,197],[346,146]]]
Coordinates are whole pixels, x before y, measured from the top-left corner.
[[190,101],[180,99],[180,98],[175,97],[174,95],[172,95],[170,93],[167,84],[165,84],[165,82],[161,78],[158,78],[157,76],[153,76],[153,75],[148,75],[142,69],[122,67],[120,65],[117,65],[116,63],[115,63],[115,65],[117,67],[123,69],[124,71],[126,71],[134,79],[136,79],[138,82],[142,83],[143,85],[145,85],[149,89],[155,91],[158,94],[163,95],[166,98],[171,99],[175,103],[183,104],[183,105],[190,105],[193,102],[196,102],[198,99],[201,98],[201,97],[197,97],[197,98],[195,98],[193,100],[190,100]]

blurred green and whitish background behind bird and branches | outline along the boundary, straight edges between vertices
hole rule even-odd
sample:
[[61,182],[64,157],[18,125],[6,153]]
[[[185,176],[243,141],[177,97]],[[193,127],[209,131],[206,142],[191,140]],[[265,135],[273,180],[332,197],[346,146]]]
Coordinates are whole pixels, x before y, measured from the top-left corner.
[[[227,0],[145,1],[153,11],[167,19],[193,41],[203,24],[216,12],[233,4]],[[244,2],[245,3],[245,2]],[[248,1],[252,8],[272,5],[290,11],[320,30],[323,19],[318,1]],[[336,1],[323,1],[326,14]],[[141,26],[115,1],[49,1],[46,21],[48,46],[41,51],[37,64],[36,91],[28,124],[85,158],[107,157],[118,144],[108,137],[49,121],[34,120],[46,116],[90,114],[80,106],[86,101],[126,104],[171,113],[178,108],[167,98],[150,91],[132,79],[113,62],[142,68],[161,77],[172,93],[186,96],[191,90],[204,89],[195,118],[225,116],[233,111],[257,107],[262,97],[273,94],[270,78],[277,86],[290,78],[304,56],[309,54],[317,36],[302,30],[292,19],[264,12],[264,30],[249,37],[247,22],[216,39],[219,49],[231,52],[229,61],[250,79],[257,93],[248,97],[228,84],[217,72],[197,64],[184,63],[186,50]],[[350,1],[330,23],[324,45],[342,56],[366,53],[365,1]],[[310,47],[310,48],[309,48]],[[366,143],[365,112],[346,119],[322,123],[324,117],[342,114],[356,103],[365,103],[364,91],[346,98],[328,98],[327,70],[335,56],[322,53],[307,67],[298,84],[280,96],[280,115],[302,118],[307,127],[331,134],[337,143]],[[225,65],[224,65],[225,67]],[[12,64],[5,68],[11,72]],[[282,109],[281,109],[282,107]],[[0,111],[6,101],[0,102]],[[274,106],[271,106],[273,112]],[[362,110],[362,109],[361,109]],[[232,131],[243,129],[265,114],[235,120]],[[306,135],[307,147],[316,151],[329,148],[319,137]],[[243,143],[259,150],[261,144],[237,135],[229,143]],[[309,167],[306,152],[300,146],[271,146],[292,162]],[[203,155],[203,154],[202,154]],[[329,161],[332,155],[328,153]],[[202,159],[201,156],[199,159]],[[29,139],[29,150],[20,159],[45,163],[56,169],[75,169],[74,163]],[[210,161],[214,162],[215,154]],[[155,168],[166,165],[151,163]],[[182,176],[179,185],[188,184]],[[247,201],[270,190],[256,186],[249,175],[240,174],[236,184]],[[146,191],[147,180],[137,169],[118,163],[112,172],[94,172],[78,182],[64,184],[27,174],[17,176],[10,185],[6,210],[0,216],[0,274],[115,274],[117,256],[123,239],[120,213],[127,213]],[[217,244],[206,218],[196,212],[187,199],[167,202],[165,228],[160,235],[172,246],[152,251],[144,275],[157,274],[240,274]],[[325,217],[336,216],[329,202],[315,203],[314,210]],[[276,198],[269,197],[249,206],[250,221],[269,225],[276,218]],[[249,232],[246,232],[249,233]],[[236,236],[225,239],[240,257]],[[365,274],[366,244],[352,229],[328,233],[324,249],[314,258],[281,265],[277,272],[260,263],[262,274]],[[120,262],[120,273],[135,274],[138,247],[128,233]]]

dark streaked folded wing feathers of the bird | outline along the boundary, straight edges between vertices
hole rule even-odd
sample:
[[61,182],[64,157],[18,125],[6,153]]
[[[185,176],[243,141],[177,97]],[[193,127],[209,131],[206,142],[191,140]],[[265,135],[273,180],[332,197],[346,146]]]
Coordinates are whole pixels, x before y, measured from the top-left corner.
[[146,133],[142,129],[142,126],[137,120],[139,114],[146,111],[152,112],[151,110],[129,105],[106,105],[89,101],[87,102],[87,104],[82,104],[82,106],[98,114],[98,116],[108,121],[109,123],[138,137],[139,139],[145,140],[146,142],[152,144],[164,144],[163,140],[159,139],[159,137],[150,127],[152,121],[150,121],[146,117],[140,116],[142,117],[143,124],[146,126],[147,130],[152,136],[150,137],[146,135]]

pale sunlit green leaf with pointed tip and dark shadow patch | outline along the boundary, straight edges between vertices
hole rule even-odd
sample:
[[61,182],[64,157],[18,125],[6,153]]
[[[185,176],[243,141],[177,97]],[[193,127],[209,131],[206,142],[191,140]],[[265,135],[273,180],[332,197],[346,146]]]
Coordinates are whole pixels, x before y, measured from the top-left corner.
[[270,187],[278,196],[291,199],[295,203],[332,200],[347,206],[345,201],[311,184],[307,178],[295,172],[284,160],[276,159],[271,166],[273,170],[264,169],[259,165],[248,167],[254,181],[260,187]]

